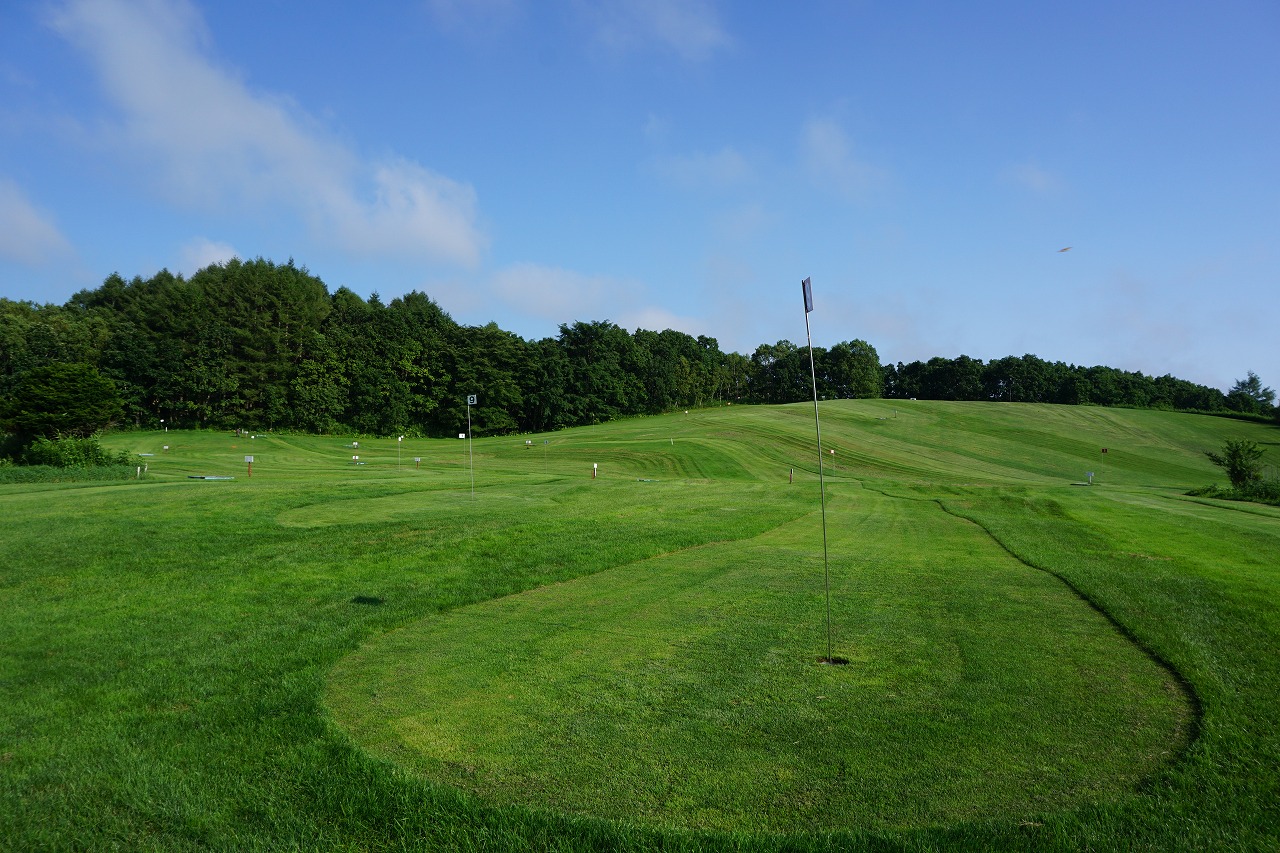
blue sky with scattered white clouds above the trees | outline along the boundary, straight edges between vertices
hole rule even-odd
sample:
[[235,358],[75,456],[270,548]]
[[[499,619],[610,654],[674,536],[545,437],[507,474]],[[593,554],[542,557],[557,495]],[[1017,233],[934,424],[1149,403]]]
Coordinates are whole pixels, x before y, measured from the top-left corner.
[[0,296],[232,256],[745,353],[812,277],[883,361],[1275,386],[1280,4],[3,4]]

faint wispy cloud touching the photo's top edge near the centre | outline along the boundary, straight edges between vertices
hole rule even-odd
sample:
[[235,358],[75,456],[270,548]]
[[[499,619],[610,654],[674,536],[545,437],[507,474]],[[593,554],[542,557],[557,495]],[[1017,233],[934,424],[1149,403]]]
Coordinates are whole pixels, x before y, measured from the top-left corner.
[[585,9],[596,41],[618,53],[657,44],[701,61],[732,44],[707,0],[600,0]]

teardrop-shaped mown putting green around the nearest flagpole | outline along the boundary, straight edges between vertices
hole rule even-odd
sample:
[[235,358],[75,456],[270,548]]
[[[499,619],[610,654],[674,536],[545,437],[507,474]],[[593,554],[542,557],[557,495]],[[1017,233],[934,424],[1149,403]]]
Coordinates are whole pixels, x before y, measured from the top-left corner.
[[497,802],[737,831],[1027,818],[1187,743],[1172,675],[980,528],[845,489],[828,521],[847,666],[815,662],[810,515],[394,631],[328,701],[367,748]]

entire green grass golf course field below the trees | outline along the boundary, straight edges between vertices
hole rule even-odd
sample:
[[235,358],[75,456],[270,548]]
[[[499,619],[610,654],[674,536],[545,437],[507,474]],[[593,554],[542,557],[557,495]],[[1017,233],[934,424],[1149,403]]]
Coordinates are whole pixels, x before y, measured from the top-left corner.
[[0,848],[1280,848],[1275,428],[822,419],[841,666],[812,406],[0,485]]

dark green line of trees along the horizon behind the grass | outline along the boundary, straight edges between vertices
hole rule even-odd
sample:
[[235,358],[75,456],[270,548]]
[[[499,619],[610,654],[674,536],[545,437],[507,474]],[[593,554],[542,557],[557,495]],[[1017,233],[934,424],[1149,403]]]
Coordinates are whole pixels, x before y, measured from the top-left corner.
[[[881,365],[861,339],[814,350],[824,398],[916,397],[1270,412],[1270,388],[1231,394],[1174,377],[1076,368],[1032,355]],[[1253,380],[1257,377],[1249,374]],[[1238,383],[1238,386],[1243,386]],[[1239,393],[1236,393],[1239,392]],[[1266,393],[1263,393],[1266,392]],[[812,396],[808,348],[750,355],[716,338],[634,333],[608,320],[524,339],[462,325],[420,292],[384,304],[329,292],[305,266],[256,259],[189,279],[108,277],[65,305],[0,298],[0,429],[31,439],[120,425],[453,435],[466,400],[477,434],[544,432],[694,406]],[[63,402],[56,402],[56,401]],[[40,406],[91,403],[83,424]],[[41,402],[44,401],[44,402]],[[49,412],[45,412],[46,415]],[[76,418],[70,418],[72,421]]]

